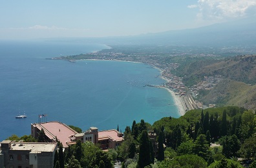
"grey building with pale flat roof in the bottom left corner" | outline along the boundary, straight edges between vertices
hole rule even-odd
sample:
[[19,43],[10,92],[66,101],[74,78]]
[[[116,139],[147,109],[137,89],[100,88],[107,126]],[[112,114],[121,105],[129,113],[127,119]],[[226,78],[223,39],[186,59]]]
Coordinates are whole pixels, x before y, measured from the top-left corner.
[[0,149],[0,166],[5,168],[53,167],[56,150],[57,143],[3,140]]

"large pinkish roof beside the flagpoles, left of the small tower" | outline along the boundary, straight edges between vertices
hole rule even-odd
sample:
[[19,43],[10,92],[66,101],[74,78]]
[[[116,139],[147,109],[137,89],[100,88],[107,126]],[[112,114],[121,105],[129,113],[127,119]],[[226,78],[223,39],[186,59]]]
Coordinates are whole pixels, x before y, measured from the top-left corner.
[[47,135],[48,137],[55,138],[55,136],[57,136],[58,140],[62,143],[63,147],[68,147],[66,142],[70,142],[69,136],[75,135],[77,133],[69,126],[61,122],[45,122],[37,124],[37,127],[41,130],[40,125],[47,130],[45,131],[45,135]]

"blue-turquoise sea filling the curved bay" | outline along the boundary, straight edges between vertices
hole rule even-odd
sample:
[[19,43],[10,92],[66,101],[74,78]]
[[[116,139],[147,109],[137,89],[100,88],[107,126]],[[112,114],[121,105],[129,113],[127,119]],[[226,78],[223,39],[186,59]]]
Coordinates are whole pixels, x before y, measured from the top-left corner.
[[[150,65],[120,61],[56,61],[47,58],[109,48],[67,41],[0,41],[0,140],[30,135],[30,124],[56,121],[124,131],[133,120],[153,124],[180,117]],[[27,118],[16,118],[25,113]],[[46,117],[39,118],[39,115]]]

